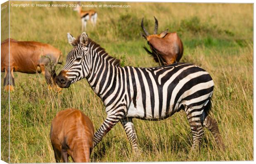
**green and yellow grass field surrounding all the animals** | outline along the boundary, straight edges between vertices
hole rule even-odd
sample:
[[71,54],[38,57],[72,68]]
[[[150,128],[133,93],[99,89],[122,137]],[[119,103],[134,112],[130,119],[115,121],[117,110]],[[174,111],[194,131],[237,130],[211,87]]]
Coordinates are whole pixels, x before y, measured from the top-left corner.
[[[104,3],[107,2],[98,4]],[[162,121],[134,119],[140,155],[131,152],[126,133],[118,123],[95,147],[91,161],[253,160],[253,5],[126,4],[131,8],[97,8],[97,26],[92,28],[88,23],[86,32],[89,37],[110,55],[121,59],[123,65],[154,67],[157,64],[142,48],[147,46],[139,34],[142,17],[149,33],[154,28],[153,16],[159,20],[159,32],[166,28],[177,31],[184,44],[181,62],[199,65],[213,77],[215,89],[211,115],[218,122],[227,150],[216,149],[212,135],[205,130],[201,152],[191,153],[190,127],[185,113],[180,111]],[[81,34],[81,22],[71,8],[11,7],[10,17],[10,37],[52,44],[63,52],[64,63],[72,48],[66,32],[73,36]],[[6,35],[1,35],[1,41],[4,39]],[[2,73],[2,83],[3,78]],[[86,80],[78,81],[58,94],[47,90],[41,74],[14,73],[14,79],[15,91],[10,95],[12,163],[55,162],[49,132],[51,120],[61,110],[82,110],[92,120],[95,130],[106,117],[103,103]],[[7,161],[8,103],[3,86],[1,95],[1,157]]]

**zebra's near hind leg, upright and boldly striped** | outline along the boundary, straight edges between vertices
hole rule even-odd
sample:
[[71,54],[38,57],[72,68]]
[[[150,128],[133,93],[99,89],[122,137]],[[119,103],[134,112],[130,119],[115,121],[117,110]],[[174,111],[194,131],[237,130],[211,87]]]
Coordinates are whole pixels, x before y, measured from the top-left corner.
[[192,132],[192,139],[193,139],[192,149],[200,148],[201,140],[204,134],[204,129],[200,121],[202,110],[199,111],[199,109],[189,108],[186,111],[187,120],[190,124],[190,129]]

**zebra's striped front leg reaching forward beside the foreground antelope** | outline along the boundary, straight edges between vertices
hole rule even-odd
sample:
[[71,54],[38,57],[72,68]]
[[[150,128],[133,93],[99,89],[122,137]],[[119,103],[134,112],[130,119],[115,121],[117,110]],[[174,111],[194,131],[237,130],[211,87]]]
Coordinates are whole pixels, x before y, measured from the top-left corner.
[[117,122],[119,122],[123,116],[125,115],[126,110],[125,109],[120,109],[116,110],[114,112],[111,112],[107,118],[104,120],[103,124],[100,126],[100,128],[97,130],[97,132],[94,134],[94,139],[93,139],[93,146],[95,147],[97,143],[99,143],[103,136],[109,132],[114,125],[116,125]]

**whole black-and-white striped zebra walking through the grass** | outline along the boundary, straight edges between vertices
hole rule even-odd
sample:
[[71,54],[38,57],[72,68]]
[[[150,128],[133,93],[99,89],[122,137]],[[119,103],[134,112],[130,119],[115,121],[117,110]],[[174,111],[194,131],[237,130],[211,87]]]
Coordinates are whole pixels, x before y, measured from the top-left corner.
[[121,67],[83,32],[78,38],[67,33],[73,49],[55,82],[61,88],[86,78],[106,106],[107,118],[94,135],[94,146],[121,122],[133,150],[138,151],[133,118],[163,120],[184,110],[192,131],[192,149],[200,148],[203,127],[213,134],[219,148],[223,140],[218,124],[208,113],[211,108],[213,79],[199,66],[190,63],[139,68]]

